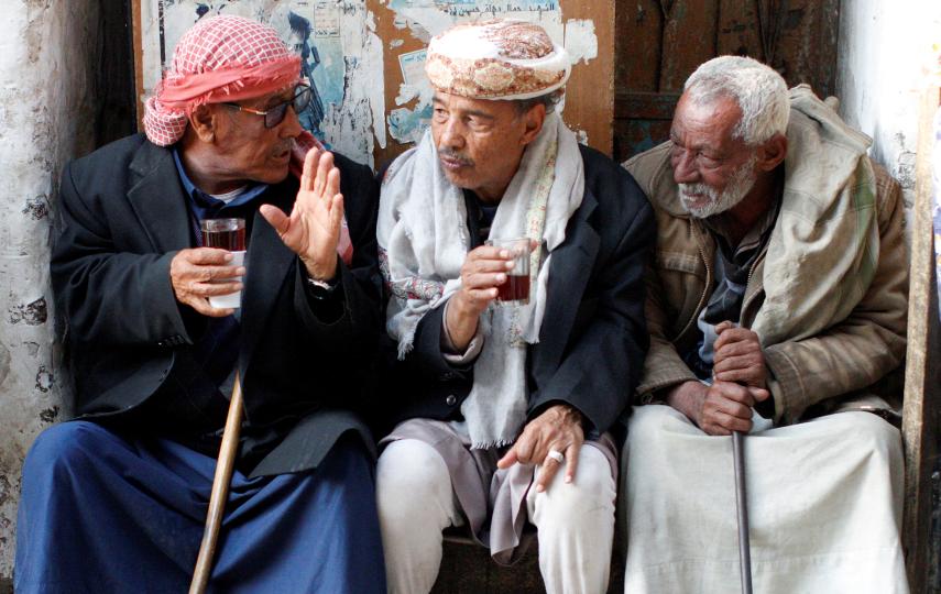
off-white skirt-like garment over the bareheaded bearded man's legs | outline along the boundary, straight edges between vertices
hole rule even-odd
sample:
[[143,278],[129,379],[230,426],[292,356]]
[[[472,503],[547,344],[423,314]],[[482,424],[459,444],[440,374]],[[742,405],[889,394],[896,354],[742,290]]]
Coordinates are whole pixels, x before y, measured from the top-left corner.
[[[754,591],[907,594],[898,430],[839,413],[744,439]],[[634,409],[622,460],[626,594],[740,591],[732,440]]]

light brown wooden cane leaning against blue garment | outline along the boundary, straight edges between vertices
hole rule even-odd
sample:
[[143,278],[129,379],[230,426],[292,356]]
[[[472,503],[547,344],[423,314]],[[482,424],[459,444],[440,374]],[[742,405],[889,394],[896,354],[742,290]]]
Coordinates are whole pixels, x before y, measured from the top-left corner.
[[193,582],[189,583],[189,594],[203,594],[206,591],[206,584],[209,583],[209,574],[212,572],[212,558],[216,556],[216,541],[219,539],[219,527],[222,525],[226,499],[229,498],[229,483],[232,481],[232,468],[236,465],[236,453],[239,450],[241,425],[242,385],[239,382],[239,372],[236,372],[236,384],[232,386],[232,399],[229,402],[226,430],[222,432],[222,446],[219,448],[216,475],[212,477],[206,529],[203,531],[203,542],[199,544],[196,569],[193,571]]

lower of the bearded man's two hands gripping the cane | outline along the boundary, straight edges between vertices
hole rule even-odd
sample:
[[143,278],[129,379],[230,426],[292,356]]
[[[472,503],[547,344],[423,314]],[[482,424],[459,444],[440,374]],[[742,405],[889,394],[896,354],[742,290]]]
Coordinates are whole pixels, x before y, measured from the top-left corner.
[[686,382],[667,395],[667,404],[710,436],[752,430],[752,408],[767,399],[767,389],[715,381],[711,386]]

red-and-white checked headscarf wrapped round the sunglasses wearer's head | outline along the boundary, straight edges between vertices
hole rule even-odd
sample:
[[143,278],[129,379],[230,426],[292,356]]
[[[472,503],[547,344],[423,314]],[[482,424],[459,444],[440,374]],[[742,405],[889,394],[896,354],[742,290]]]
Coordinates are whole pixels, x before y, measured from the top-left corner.
[[169,70],[144,103],[147,139],[174,144],[196,106],[259,97],[299,76],[300,58],[271,26],[232,15],[203,20],[179,40]]

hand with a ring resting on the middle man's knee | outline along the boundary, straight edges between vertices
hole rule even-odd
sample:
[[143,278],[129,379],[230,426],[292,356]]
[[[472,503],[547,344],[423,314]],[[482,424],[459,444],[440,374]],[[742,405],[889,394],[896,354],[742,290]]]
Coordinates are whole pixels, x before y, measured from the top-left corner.
[[583,442],[581,413],[565,404],[550,406],[526,424],[516,443],[500,459],[496,466],[507,469],[516,463],[541,464],[543,468],[536,480],[536,492],[541,493],[546,491],[562,465],[561,462],[548,457],[549,451],[556,450],[565,454],[566,483],[571,483],[575,481],[578,453]]

